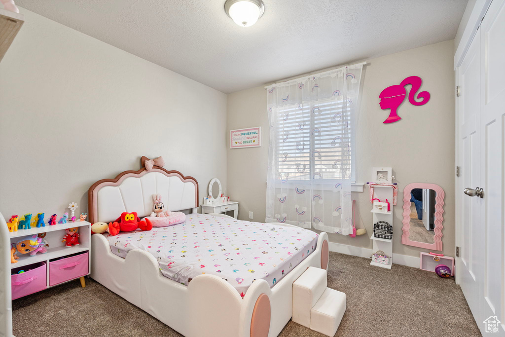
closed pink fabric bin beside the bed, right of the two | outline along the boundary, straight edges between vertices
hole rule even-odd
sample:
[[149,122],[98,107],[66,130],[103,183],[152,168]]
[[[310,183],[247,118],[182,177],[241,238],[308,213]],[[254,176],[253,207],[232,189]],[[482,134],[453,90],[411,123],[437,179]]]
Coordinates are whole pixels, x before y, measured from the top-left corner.
[[88,252],[49,261],[49,285],[56,285],[88,274]]

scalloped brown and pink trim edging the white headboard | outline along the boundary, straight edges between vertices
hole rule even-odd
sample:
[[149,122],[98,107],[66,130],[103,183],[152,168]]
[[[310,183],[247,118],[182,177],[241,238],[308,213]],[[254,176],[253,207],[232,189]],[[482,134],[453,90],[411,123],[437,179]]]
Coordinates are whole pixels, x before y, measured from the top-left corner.
[[94,218],[95,214],[97,213],[97,205],[96,205],[96,196],[98,193],[98,190],[102,187],[105,186],[118,186],[120,185],[124,179],[129,178],[129,177],[137,177],[140,178],[146,173],[149,172],[160,172],[166,175],[167,177],[172,177],[172,176],[177,176],[181,179],[183,182],[192,182],[195,185],[195,207],[198,207],[198,181],[196,181],[195,178],[191,176],[184,176],[182,175],[181,172],[179,171],[168,171],[164,169],[163,167],[155,166],[153,169],[150,171],[147,171],[145,168],[141,168],[138,171],[124,171],[118,174],[114,179],[102,179],[98,180],[94,184],[89,187],[88,190],[88,219],[90,222],[94,223],[97,221],[97,219]]

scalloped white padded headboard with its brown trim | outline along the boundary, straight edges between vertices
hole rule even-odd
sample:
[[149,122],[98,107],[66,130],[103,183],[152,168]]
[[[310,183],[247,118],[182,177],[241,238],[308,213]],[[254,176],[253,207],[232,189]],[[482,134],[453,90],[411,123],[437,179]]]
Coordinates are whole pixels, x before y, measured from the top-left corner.
[[137,212],[139,217],[153,211],[153,195],[161,194],[170,211],[198,207],[198,182],[178,171],[155,166],[150,171],[125,171],[114,179],[95,182],[88,190],[89,221],[110,222],[123,212]]

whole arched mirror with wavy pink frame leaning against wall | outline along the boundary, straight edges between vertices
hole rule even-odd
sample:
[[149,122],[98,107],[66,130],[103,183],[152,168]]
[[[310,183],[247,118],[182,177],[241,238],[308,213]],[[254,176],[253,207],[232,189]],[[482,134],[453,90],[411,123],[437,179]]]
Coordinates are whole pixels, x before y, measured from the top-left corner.
[[434,251],[442,250],[444,191],[430,183],[411,183],[403,189],[401,243]]

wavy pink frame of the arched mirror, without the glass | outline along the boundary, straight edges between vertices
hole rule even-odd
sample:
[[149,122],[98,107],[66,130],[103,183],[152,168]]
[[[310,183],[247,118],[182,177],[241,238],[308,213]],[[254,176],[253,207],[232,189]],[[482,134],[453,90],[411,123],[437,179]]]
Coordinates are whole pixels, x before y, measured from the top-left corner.
[[[412,241],[409,238],[410,235],[410,207],[411,207],[411,191],[414,188],[427,188],[427,189],[433,189],[436,192],[436,197],[435,197],[435,236],[434,244],[427,244],[423,242],[418,242],[418,241]],[[435,251],[441,251],[442,250],[442,222],[443,222],[443,199],[445,197],[445,193],[442,189],[442,187],[435,185],[435,184],[429,184],[429,183],[418,183],[418,182],[413,182],[405,186],[405,189],[403,189],[403,234],[401,235],[401,243],[403,245],[410,245],[414,247],[420,247],[424,249],[432,249]]]

